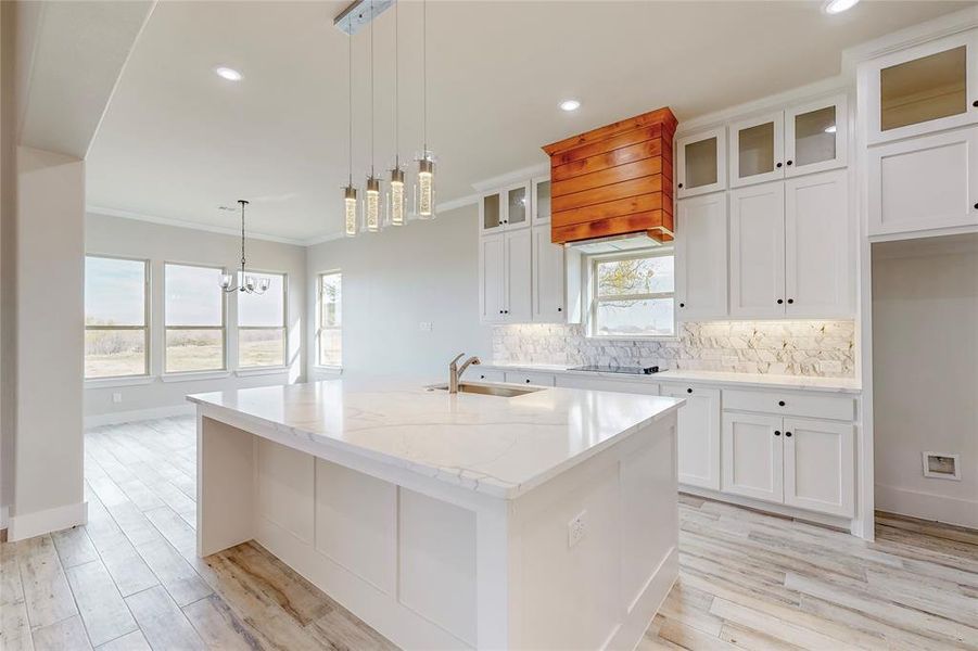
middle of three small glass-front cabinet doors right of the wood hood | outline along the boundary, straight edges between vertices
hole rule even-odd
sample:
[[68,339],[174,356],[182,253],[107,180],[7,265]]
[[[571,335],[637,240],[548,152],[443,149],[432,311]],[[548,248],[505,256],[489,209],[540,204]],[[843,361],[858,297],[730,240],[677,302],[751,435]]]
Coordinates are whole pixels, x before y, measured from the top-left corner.
[[785,177],[784,112],[731,125],[731,188]]

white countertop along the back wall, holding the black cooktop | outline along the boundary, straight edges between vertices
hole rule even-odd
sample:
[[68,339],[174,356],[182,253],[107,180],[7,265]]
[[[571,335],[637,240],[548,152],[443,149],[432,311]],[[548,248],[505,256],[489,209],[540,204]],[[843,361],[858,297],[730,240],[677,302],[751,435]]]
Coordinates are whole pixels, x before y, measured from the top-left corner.
[[471,376],[480,368],[500,370],[522,370],[544,373],[573,373],[581,376],[609,378],[630,382],[701,382],[708,384],[739,384],[762,388],[808,388],[825,392],[860,393],[860,382],[853,378],[815,378],[811,375],[773,375],[762,373],[728,373],[721,371],[665,370],[651,375],[628,375],[625,373],[599,373],[572,371],[567,366],[550,363],[491,362],[481,367],[469,367]]

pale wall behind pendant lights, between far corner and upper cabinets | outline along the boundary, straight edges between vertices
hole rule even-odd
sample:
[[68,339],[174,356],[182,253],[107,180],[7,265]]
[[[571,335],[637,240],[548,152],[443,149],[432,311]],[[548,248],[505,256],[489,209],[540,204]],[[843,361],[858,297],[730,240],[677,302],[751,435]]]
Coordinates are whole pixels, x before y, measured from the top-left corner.
[[[411,221],[376,234],[312,246],[308,282],[343,272],[343,373],[446,380],[467,353],[488,360],[492,330],[479,322],[478,208]],[[308,314],[315,319],[316,292]],[[432,323],[430,332],[419,323]],[[309,368],[316,345],[309,329]]]

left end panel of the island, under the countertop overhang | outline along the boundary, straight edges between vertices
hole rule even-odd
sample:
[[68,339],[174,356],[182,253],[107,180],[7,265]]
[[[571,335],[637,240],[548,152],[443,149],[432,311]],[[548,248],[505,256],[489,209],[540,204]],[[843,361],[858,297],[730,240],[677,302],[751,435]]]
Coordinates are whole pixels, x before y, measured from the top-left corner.
[[216,553],[254,537],[254,436],[196,416],[196,552]]

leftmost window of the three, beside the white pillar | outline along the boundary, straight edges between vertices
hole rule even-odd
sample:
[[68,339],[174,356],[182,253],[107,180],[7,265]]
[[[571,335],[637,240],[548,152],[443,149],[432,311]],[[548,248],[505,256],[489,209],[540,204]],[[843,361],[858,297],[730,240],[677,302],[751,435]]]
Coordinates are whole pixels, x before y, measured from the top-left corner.
[[85,376],[148,375],[147,260],[85,257]]

